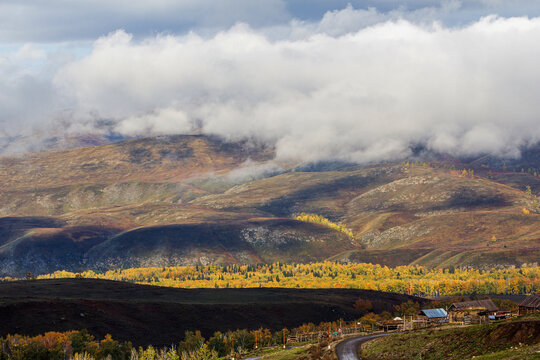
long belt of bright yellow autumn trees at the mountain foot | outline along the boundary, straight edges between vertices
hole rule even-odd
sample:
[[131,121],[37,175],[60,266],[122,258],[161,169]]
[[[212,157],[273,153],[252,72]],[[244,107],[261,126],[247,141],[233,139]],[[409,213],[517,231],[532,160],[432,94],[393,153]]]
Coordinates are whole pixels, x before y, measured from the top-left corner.
[[[423,266],[316,262],[309,264],[197,265],[57,271],[38,278],[92,278],[181,288],[351,288],[418,296],[529,294],[540,289],[540,267],[445,269]],[[9,280],[9,279],[6,279]]]

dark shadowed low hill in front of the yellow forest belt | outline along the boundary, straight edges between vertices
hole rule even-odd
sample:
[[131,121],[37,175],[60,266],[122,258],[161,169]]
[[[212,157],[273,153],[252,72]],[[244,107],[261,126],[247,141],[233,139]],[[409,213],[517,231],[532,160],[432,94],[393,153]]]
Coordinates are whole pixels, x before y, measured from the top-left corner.
[[123,282],[60,279],[0,283],[0,337],[87,329],[135,345],[170,346],[186,330],[205,337],[230,329],[281,330],[359,317],[358,298],[393,311],[407,295],[349,289],[172,289]]

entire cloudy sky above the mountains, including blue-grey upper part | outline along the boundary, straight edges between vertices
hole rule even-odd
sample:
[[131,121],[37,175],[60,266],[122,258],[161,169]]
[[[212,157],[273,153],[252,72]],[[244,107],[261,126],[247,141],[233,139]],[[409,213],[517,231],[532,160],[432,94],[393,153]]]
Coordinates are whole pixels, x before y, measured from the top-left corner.
[[537,0],[2,0],[0,24],[0,154],[107,133],[358,163],[540,141]]

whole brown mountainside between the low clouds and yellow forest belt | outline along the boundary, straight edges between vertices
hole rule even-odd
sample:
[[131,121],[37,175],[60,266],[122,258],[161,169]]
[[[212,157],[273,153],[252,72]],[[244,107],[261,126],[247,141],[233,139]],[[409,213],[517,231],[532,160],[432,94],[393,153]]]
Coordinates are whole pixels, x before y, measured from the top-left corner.
[[[534,174],[487,168],[491,158],[362,167],[273,157],[262,145],[205,136],[1,157],[0,276],[325,259],[493,267],[540,258],[540,214],[522,212],[525,187],[539,189]],[[355,239],[293,220],[301,212],[345,223]]]

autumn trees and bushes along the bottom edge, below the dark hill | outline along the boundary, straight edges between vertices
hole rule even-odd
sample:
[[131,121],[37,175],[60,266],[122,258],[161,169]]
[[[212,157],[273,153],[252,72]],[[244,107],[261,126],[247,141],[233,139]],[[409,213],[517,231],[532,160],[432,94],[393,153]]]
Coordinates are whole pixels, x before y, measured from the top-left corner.
[[[365,316],[365,319],[371,318]],[[114,340],[111,335],[97,340],[87,330],[38,336],[7,335],[0,337],[0,360],[217,360],[232,353],[246,354],[256,348],[281,346],[291,333],[338,331],[341,322],[309,323],[275,332],[263,328],[217,331],[208,339],[200,331],[186,331],[182,341],[165,348],[152,345],[137,348],[129,341]]]

